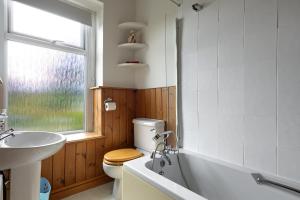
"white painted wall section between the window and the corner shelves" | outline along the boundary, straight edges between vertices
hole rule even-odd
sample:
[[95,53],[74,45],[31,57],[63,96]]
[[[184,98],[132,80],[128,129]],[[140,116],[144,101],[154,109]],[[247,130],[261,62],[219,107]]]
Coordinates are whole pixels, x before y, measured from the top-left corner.
[[134,88],[134,73],[119,69],[120,56],[126,52],[118,49],[121,31],[118,24],[135,20],[135,0],[101,0],[104,4],[103,14],[103,71],[97,73],[97,85]]

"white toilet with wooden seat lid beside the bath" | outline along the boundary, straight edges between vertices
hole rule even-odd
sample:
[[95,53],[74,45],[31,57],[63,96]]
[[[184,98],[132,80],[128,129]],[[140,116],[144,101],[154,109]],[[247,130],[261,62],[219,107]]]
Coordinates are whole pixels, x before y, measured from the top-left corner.
[[[129,160],[139,158],[143,155],[150,154],[155,149],[153,137],[156,133],[164,131],[165,123],[163,120],[138,118],[133,120],[134,123],[134,146],[136,149],[118,149],[110,151],[104,155],[103,170],[114,178],[113,196],[115,199],[122,198],[122,166]],[[155,130],[155,131],[154,131]]]

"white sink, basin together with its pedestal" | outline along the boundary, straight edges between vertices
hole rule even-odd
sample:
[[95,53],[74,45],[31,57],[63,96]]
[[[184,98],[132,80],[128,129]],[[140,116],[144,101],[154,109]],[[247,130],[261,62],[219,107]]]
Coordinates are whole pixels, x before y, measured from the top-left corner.
[[39,200],[41,160],[65,144],[63,135],[14,132],[0,143],[0,170],[11,169],[11,200]]

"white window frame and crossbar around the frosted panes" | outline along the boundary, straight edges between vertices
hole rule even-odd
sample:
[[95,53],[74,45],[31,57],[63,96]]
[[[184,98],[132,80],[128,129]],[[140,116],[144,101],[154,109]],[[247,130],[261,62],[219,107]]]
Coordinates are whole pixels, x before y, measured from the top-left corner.
[[[32,36],[27,36],[19,33],[9,32],[9,0],[0,0],[0,78],[3,80],[3,106],[0,109],[8,107],[8,91],[7,91],[7,41],[22,42],[34,46],[45,47],[54,50],[65,51],[84,55],[86,58],[85,64],[85,107],[84,107],[84,130],[63,132],[64,134],[74,134],[82,132],[92,132],[93,126],[93,94],[90,88],[96,82],[96,68],[102,66],[102,48],[98,49],[99,42],[102,44],[102,15],[103,4],[97,0],[64,0],[66,3],[88,9],[92,12],[92,28],[85,30],[84,49],[74,47],[55,41],[45,40]],[[2,19],[2,20],[1,20]],[[4,47],[4,48],[1,48]],[[97,52],[96,52],[97,51]],[[0,86],[1,87],[1,86]],[[1,93],[1,88],[0,88]],[[1,105],[0,105],[1,106]]]

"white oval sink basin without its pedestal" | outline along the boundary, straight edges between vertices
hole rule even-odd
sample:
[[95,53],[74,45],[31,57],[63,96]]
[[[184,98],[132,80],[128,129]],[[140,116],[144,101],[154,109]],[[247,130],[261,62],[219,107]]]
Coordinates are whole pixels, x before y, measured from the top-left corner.
[[61,134],[49,132],[15,132],[0,143],[0,170],[13,169],[41,161],[65,144]]

